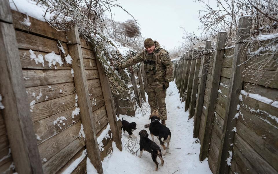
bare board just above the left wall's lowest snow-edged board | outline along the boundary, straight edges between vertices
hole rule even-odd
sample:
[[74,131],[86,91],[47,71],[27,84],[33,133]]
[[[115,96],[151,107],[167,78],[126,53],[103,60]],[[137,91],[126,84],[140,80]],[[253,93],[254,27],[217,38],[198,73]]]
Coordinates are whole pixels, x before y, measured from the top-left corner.
[[79,138],[74,139],[74,141],[43,164],[44,173],[56,173],[84,147],[84,144],[85,142],[81,142]]

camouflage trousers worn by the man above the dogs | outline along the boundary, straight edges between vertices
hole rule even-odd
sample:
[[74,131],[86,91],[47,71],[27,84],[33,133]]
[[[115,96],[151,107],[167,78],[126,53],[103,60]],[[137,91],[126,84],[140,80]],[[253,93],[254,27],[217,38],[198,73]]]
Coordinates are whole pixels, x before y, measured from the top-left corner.
[[151,106],[151,113],[158,109],[160,119],[167,120],[167,110],[166,110],[166,89],[163,89],[162,85],[150,85],[148,84],[148,101]]

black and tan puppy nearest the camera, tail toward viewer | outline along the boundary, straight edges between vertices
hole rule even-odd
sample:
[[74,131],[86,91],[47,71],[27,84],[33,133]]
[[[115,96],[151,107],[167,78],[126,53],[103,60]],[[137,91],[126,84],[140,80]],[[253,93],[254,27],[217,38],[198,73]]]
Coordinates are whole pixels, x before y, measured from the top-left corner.
[[156,160],[157,156],[160,158],[161,164],[160,166],[163,166],[164,160],[161,155],[161,149],[160,147],[153,141],[151,141],[148,136],[149,134],[145,129],[139,132],[140,135],[140,155],[138,157],[141,157],[143,154],[143,151],[147,151],[151,153],[151,158],[153,159],[153,162],[156,163],[156,171],[158,168],[158,162]]

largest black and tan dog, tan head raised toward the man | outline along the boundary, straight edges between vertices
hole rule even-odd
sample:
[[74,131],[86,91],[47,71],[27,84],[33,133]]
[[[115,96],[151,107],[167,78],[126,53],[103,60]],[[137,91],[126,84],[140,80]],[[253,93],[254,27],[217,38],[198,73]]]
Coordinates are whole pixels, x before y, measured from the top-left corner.
[[[162,155],[166,155],[166,148],[169,148],[170,145],[171,132],[169,128],[159,122],[160,116],[157,109],[154,110],[153,113],[151,113],[150,120],[151,139],[154,141],[153,136],[158,137],[160,145],[163,148]],[[167,147],[165,147],[164,143],[167,143]]]

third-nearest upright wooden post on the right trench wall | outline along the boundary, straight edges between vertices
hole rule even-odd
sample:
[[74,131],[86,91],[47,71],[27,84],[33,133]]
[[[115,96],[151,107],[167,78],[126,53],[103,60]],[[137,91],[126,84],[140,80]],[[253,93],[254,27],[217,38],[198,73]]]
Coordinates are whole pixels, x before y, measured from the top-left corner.
[[194,138],[197,138],[199,136],[201,113],[202,113],[204,94],[205,94],[205,88],[206,88],[206,75],[208,73],[208,67],[209,67],[209,55],[210,55],[209,50],[210,49],[211,49],[211,41],[206,41],[205,54],[204,54],[204,58],[202,61],[200,89],[198,90],[198,94],[197,94],[197,104],[196,104],[195,114],[194,114],[194,130],[193,130]]

